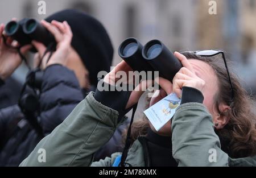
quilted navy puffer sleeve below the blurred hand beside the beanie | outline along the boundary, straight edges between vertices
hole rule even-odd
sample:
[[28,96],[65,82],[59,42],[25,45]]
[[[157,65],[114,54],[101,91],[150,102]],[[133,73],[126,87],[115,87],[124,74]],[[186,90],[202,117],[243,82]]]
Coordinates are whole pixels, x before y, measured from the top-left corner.
[[40,122],[49,134],[84,99],[73,71],[55,64],[46,68],[40,94]]

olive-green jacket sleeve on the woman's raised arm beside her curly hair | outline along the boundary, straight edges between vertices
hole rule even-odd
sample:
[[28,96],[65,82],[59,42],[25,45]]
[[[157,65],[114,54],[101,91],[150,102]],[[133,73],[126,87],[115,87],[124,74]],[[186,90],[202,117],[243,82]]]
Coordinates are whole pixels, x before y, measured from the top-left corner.
[[204,105],[180,105],[172,119],[172,155],[179,166],[228,166],[228,155],[221,150]]

